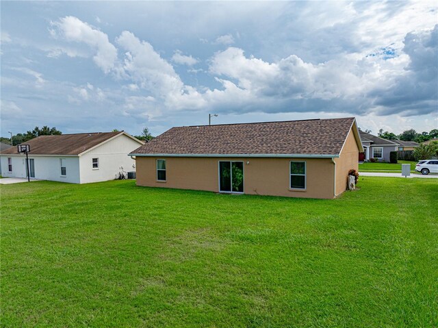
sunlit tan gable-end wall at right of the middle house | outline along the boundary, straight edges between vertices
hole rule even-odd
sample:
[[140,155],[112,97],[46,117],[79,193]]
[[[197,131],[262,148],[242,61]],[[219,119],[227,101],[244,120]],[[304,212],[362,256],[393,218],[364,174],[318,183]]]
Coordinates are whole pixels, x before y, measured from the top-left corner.
[[342,194],[342,192],[347,190],[348,171],[350,171],[352,168],[354,168],[356,171],[359,171],[359,163],[357,162],[358,156],[359,147],[357,147],[357,142],[353,131],[350,130],[339,158],[335,158],[336,195]]

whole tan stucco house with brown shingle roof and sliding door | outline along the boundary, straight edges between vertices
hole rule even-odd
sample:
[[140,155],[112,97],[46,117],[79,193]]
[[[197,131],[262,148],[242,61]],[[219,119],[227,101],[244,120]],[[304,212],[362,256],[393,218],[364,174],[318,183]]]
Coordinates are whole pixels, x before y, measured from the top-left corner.
[[137,185],[332,199],[363,151],[355,118],[172,127],[132,151]]

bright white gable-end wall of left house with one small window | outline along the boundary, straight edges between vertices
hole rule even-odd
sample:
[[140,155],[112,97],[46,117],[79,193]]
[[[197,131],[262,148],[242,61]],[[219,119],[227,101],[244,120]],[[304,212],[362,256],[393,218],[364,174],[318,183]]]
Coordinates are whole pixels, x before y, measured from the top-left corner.
[[[120,171],[136,171],[136,161],[128,153],[141,144],[121,135],[79,157],[81,184],[116,179]],[[99,169],[92,168],[92,159],[99,158]]]

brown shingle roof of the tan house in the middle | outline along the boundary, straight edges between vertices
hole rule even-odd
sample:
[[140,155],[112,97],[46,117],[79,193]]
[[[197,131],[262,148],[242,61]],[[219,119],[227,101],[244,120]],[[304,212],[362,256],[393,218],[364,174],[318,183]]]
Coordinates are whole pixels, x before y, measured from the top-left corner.
[[132,154],[340,153],[355,118],[172,127]]

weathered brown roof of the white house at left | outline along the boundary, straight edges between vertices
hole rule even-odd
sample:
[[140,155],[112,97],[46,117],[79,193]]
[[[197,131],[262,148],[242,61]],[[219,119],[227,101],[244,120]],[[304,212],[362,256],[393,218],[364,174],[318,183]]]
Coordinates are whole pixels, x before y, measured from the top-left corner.
[[[30,145],[31,155],[79,155],[105,140],[123,132],[98,132],[91,134],[60,134],[57,136],[39,136],[25,144]],[[1,155],[18,154],[17,147],[1,152]]]

